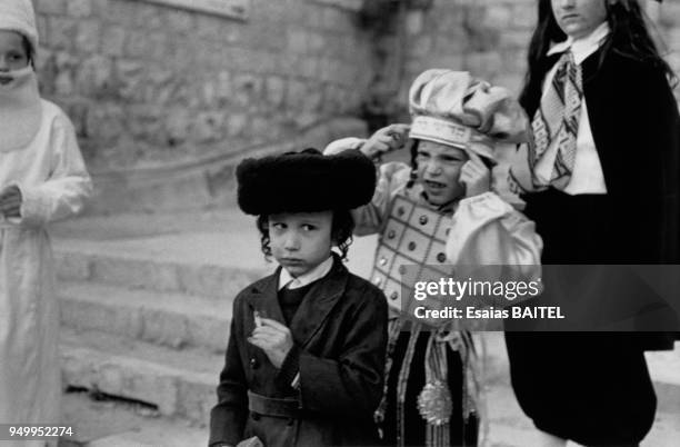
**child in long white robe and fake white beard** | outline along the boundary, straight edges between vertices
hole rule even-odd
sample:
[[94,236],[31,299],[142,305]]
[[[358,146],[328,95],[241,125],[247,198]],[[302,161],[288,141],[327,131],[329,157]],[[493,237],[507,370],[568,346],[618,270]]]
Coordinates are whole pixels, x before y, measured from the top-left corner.
[[80,211],[91,192],[73,126],[40,98],[37,51],[30,0],[1,1],[0,424],[59,424],[59,306],[47,225]]

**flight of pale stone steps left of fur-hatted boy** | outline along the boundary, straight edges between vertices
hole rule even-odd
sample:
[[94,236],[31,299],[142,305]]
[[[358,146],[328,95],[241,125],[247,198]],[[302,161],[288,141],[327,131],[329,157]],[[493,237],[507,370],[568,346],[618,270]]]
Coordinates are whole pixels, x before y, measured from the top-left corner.
[[57,262],[66,383],[207,424],[232,299],[263,272],[129,250],[92,254],[76,241],[63,247]]

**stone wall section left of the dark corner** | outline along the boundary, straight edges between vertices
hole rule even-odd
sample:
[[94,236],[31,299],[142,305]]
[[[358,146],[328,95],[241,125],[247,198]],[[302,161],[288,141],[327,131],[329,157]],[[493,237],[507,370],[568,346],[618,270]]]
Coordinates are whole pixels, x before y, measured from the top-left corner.
[[251,0],[247,20],[140,0],[34,0],[43,96],[93,171],[280,141],[356,113],[371,36],[351,10]]

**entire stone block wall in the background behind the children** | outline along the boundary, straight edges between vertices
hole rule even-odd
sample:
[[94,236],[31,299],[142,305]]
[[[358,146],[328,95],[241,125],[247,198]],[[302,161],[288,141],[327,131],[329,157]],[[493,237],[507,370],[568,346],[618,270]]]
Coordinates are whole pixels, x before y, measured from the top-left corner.
[[[41,89],[77,127],[94,212],[232,201],[244,155],[408,119],[408,88],[428,68],[518,92],[536,24],[536,0],[248,0],[246,20],[144,0],[33,1]],[[642,1],[680,70],[680,2]],[[357,119],[334,125],[346,116]]]

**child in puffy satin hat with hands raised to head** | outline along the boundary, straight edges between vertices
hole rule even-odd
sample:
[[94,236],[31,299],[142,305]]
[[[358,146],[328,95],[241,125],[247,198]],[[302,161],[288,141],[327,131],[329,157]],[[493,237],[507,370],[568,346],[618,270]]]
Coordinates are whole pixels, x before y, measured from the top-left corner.
[[519,202],[487,168],[500,143],[528,137],[528,121],[507,90],[450,70],[420,74],[410,109],[410,127],[393,125],[366,142],[347,139],[326,150],[353,147],[376,158],[412,139],[411,166],[380,166],[371,203],[352,213],[356,234],[380,235],[371,281],[392,310],[377,419],[389,445],[477,445],[482,408],[472,338],[407,317],[402,278],[414,267],[431,279],[450,277],[451,267],[454,275],[459,267],[483,265],[526,266],[521,274],[536,276],[541,240],[533,224],[501,199]]

